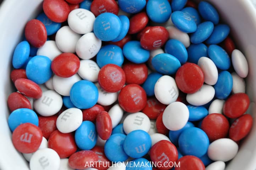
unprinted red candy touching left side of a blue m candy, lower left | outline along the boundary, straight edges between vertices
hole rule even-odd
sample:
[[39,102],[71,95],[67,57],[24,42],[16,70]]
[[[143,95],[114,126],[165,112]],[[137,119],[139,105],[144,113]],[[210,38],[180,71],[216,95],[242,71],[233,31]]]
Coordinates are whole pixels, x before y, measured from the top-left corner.
[[59,130],[51,133],[48,140],[48,147],[54,149],[60,158],[68,158],[77,151],[74,134],[63,134]]

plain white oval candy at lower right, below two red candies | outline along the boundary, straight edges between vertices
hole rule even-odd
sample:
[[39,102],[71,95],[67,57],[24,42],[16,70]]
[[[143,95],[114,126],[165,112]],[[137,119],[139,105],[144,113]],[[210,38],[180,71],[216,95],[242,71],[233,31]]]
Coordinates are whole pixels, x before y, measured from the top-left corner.
[[209,145],[207,154],[211,160],[227,162],[233,159],[237,152],[238,145],[233,140],[221,138]]

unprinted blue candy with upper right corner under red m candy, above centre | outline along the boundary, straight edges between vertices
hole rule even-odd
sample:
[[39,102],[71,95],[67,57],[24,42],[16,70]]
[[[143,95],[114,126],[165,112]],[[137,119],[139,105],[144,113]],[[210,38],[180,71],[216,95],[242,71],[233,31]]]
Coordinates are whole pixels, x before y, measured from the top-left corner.
[[139,41],[129,41],[123,46],[123,55],[133,63],[148,61],[150,52],[140,46]]

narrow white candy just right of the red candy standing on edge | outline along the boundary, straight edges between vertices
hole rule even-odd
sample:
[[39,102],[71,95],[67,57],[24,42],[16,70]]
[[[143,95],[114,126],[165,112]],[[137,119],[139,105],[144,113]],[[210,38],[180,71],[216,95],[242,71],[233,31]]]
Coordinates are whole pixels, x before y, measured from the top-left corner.
[[108,111],[108,114],[110,115],[112,121],[112,128],[115,128],[123,117],[123,109],[119,106],[119,104],[115,104]]

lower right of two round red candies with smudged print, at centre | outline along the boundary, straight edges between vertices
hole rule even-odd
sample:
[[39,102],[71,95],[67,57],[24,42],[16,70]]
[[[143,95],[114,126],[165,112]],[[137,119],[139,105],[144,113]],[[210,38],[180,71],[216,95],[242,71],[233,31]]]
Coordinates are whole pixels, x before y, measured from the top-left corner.
[[137,84],[123,87],[118,96],[119,105],[129,113],[141,111],[147,104],[145,90]]

